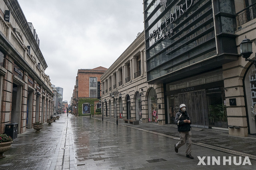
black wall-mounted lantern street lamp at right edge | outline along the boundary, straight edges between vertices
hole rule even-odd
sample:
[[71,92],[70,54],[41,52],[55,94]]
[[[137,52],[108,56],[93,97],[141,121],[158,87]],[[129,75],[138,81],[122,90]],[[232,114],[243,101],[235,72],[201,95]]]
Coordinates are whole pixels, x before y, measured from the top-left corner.
[[[245,58],[245,61],[249,61],[253,63],[256,67],[256,59],[248,59],[250,55],[252,54],[252,41],[250,39],[246,38],[240,43],[240,52],[243,58]],[[256,58],[256,53],[255,53]]]

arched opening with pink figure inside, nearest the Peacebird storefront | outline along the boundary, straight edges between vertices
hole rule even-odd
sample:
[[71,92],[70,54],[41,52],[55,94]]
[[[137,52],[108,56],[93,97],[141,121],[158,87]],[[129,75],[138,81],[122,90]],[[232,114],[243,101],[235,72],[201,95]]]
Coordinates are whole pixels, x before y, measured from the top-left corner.
[[148,92],[148,121],[157,122],[157,119],[157,95],[156,90],[154,88],[151,88]]

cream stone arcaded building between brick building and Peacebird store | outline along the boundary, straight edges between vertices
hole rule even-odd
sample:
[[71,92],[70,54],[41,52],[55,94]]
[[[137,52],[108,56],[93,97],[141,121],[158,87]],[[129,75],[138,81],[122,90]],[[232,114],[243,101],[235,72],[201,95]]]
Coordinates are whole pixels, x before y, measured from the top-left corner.
[[146,82],[144,32],[102,75],[102,112],[107,117],[164,124],[162,85]]

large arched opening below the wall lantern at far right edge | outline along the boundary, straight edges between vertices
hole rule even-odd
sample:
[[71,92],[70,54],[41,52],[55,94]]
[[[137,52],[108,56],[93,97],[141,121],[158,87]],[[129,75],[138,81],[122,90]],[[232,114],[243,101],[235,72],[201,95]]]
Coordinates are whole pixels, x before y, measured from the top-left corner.
[[253,64],[248,67],[243,82],[246,95],[248,132],[256,134],[256,69]]

